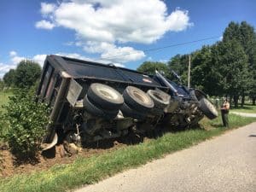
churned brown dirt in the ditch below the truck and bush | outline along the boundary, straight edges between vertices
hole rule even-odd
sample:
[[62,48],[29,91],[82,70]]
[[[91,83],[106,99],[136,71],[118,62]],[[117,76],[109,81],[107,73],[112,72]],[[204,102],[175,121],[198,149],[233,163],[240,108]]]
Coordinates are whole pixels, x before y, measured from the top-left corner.
[[47,152],[38,154],[34,160],[16,160],[8,149],[0,149],[0,177],[9,177],[19,173],[37,172],[47,170],[56,164],[72,163],[78,157],[90,157],[93,154],[102,154],[120,147],[125,143],[117,141],[90,143],[79,151],[78,154],[70,154],[64,149],[63,144],[49,149]]

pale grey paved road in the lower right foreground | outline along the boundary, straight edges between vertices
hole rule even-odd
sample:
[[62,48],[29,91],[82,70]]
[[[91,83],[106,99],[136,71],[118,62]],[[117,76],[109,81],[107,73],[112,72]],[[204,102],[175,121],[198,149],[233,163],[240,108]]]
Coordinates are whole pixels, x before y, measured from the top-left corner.
[[256,123],[77,192],[256,192]]

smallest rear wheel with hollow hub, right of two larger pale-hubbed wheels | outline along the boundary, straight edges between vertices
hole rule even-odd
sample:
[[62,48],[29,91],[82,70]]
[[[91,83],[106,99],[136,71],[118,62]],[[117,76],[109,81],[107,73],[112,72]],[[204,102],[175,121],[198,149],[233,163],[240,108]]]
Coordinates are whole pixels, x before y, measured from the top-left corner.
[[148,90],[147,94],[154,101],[155,108],[166,108],[170,103],[171,96],[162,90]]

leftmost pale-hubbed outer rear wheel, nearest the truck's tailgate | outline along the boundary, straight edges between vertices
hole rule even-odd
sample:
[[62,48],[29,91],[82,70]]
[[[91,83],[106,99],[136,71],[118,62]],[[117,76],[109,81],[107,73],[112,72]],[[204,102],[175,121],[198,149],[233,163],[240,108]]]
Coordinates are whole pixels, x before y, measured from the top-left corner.
[[87,96],[96,106],[107,110],[118,110],[124,103],[123,96],[106,84],[90,84]]

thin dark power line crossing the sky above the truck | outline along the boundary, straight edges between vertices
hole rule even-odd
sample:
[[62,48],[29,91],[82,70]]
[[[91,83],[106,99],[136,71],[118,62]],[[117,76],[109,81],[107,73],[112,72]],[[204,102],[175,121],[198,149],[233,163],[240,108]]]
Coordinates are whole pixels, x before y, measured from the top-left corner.
[[[184,45],[184,44],[194,44],[194,43],[197,43],[197,42],[206,41],[206,40],[210,40],[210,39],[214,39],[214,38],[220,38],[220,37],[221,36],[214,36],[214,37],[211,37],[211,38],[201,38],[201,39],[197,39],[197,40],[194,40],[194,41],[188,41],[188,42],[184,42],[184,43],[180,43],[180,44],[169,44],[169,45],[166,45],[166,46],[163,46],[163,47],[157,47],[157,48],[153,48],[153,49],[143,49],[142,51],[143,52],[150,52],[150,51],[155,51],[155,50],[160,50],[160,49],[167,49],[167,48],[177,47],[177,46]],[[104,59],[104,60],[105,59],[113,59],[113,58],[117,58],[117,57],[120,57],[120,56],[133,55],[133,54],[137,54],[137,53],[114,55],[114,56],[109,56],[109,57],[102,57],[101,59]]]

